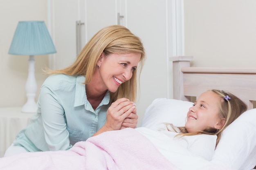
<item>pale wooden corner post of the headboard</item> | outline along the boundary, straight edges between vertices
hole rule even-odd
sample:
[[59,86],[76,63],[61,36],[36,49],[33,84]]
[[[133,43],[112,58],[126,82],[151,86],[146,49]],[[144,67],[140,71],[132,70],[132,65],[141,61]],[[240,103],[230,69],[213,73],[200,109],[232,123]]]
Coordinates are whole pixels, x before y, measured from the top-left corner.
[[193,60],[193,56],[175,56],[170,57],[169,60],[173,62],[173,99],[191,101],[191,97],[184,96],[181,68],[190,67],[190,61]]

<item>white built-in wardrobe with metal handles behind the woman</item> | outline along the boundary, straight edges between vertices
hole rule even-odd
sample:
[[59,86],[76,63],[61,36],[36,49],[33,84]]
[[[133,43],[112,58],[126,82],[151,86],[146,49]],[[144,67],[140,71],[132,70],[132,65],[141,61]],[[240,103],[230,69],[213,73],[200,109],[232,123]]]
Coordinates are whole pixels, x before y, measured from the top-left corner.
[[104,26],[126,26],[146,49],[136,102],[139,127],[153,99],[173,96],[169,57],[177,54],[176,15],[182,11],[177,3],[179,0],[48,0],[48,28],[57,50],[49,65],[58,69],[71,64]]

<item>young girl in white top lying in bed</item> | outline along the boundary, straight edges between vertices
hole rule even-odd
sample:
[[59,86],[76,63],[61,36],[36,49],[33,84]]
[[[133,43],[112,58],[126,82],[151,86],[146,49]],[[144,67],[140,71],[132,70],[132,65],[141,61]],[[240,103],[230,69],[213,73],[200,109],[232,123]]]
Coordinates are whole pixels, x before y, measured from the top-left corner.
[[[204,160],[211,161],[222,131],[246,110],[247,105],[235,95],[213,89],[202,93],[189,108],[185,126],[166,124],[167,130],[136,130],[179,168],[186,169],[189,163],[193,168],[200,168],[207,163]],[[180,157],[170,152],[177,152]],[[200,164],[195,165],[186,155],[198,157]]]

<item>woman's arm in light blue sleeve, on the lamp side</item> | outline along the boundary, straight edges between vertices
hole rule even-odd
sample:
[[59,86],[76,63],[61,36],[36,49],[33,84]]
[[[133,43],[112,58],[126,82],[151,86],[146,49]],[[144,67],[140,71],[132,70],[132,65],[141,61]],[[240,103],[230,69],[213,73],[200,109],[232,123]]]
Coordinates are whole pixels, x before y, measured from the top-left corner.
[[40,104],[45,141],[49,150],[71,148],[69,133],[64,118],[64,109],[58,96],[49,86],[42,86],[38,102]]

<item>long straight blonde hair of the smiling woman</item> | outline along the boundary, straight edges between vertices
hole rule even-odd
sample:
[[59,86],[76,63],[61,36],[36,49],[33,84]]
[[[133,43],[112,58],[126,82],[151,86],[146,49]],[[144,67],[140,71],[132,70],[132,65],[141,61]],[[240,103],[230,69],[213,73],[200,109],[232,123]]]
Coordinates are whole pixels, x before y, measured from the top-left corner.
[[137,95],[137,70],[140,76],[141,69],[144,65],[145,50],[139,37],[135,36],[125,26],[111,25],[106,26],[98,31],[90,41],[83,47],[77,56],[75,62],[67,68],[55,71],[47,71],[49,74],[65,74],[65,75],[84,75],[86,77],[85,84],[89,84],[97,67],[97,62],[101,53],[106,56],[111,53],[140,53],[139,69],[132,72],[132,78],[122,83],[115,93],[110,93],[110,103],[115,100],[126,97],[131,101],[136,100]]

